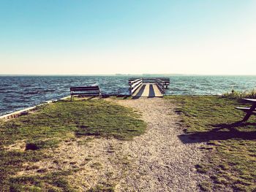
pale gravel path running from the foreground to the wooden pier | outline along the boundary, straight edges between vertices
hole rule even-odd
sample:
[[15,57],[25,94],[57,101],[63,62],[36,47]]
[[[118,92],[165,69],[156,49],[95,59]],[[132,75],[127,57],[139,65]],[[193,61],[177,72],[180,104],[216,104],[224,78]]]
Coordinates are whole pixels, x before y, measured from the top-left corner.
[[143,120],[148,123],[146,134],[122,145],[135,160],[135,169],[129,169],[118,191],[124,191],[124,186],[135,191],[199,191],[197,185],[202,178],[195,164],[203,154],[200,145],[178,139],[183,133],[172,101],[154,98],[117,102],[143,112]]

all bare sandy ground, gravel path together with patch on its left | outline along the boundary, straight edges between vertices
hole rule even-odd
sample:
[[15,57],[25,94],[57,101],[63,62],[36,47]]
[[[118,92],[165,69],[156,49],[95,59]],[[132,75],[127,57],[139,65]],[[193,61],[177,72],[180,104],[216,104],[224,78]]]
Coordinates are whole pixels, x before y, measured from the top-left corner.
[[[24,165],[19,174],[78,169],[70,183],[80,191],[114,186],[115,191],[200,191],[202,176],[195,165],[203,153],[200,144],[184,144],[175,105],[167,99],[110,100],[142,112],[146,134],[132,141],[84,137],[65,141],[50,161]],[[37,169],[29,169],[29,166]]]

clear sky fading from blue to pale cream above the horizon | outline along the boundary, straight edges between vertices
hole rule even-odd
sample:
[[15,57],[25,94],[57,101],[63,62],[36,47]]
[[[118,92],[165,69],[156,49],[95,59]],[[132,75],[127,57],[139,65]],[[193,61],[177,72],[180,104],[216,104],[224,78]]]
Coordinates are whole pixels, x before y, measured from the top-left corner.
[[0,74],[256,74],[255,0],[0,0]]

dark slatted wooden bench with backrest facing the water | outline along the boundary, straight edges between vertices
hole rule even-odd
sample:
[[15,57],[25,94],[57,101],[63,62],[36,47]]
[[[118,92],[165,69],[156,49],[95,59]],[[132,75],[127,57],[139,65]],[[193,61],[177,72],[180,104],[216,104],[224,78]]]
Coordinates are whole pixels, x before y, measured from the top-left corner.
[[72,87],[70,88],[71,101],[74,96],[99,96],[99,99],[101,99],[102,93],[99,86]]

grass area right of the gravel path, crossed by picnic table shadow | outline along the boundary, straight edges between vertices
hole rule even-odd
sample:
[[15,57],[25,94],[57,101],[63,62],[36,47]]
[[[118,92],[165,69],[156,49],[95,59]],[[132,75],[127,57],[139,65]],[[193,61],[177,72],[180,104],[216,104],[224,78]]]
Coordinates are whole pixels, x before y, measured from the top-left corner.
[[206,142],[201,148],[206,159],[196,165],[201,174],[211,176],[211,182],[200,183],[204,191],[256,191],[256,119],[236,123],[244,112],[234,99],[218,96],[170,96],[177,102],[176,112],[186,134],[184,143]]

